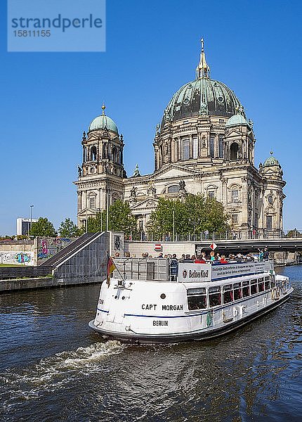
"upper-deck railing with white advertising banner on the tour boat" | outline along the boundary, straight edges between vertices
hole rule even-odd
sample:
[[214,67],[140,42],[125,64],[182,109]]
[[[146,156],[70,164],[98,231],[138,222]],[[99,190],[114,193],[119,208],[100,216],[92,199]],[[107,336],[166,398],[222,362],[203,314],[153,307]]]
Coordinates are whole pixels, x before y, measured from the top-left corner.
[[273,271],[273,261],[228,262],[227,264],[178,262],[171,258],[115,257],[114,277],[145,281],[215,281]]

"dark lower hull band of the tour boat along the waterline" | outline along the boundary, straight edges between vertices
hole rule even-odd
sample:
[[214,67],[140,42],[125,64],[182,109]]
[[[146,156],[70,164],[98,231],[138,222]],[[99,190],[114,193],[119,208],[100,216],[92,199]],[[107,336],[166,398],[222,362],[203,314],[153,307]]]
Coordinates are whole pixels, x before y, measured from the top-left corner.
[[163,333],[163,334],[138,334],[138,333],[121,333],[121,332],[113,332],[113,331],[106,331],[102,328],[99,328],[98,326],[95,326],[94,319],[89,322],[88,326],[93,329],[93,331],[96,331],[100,335],[102,335],[103,338],[108,339],[114,339],[119,340],[122,343],[135,343],[135,344],[163,344],[163,343],[183,343],[185,341],[192,341],[192,340],[209,340],[211,338],[216,338],[221,335],[225,335],[228,333],[231,333],[232,331],[237,330],[237,328],[240,328],[244,326],[245,324],[248,324],[249,322],[253,321],[254,319],[259,318],[260,316],[263,316],[267,314],[270,311],[273,311],[273,309],[276,309],[282,303],[286,302],[289,297],[290,293],[293,289],[287,293],[287,295],[282,295],[282,297],[278,300],[275,300],[271,302],[269,305],[267,305],[264,308],[259,309],[256,312],[253,312],[251,314],[247,314],[246,316],[242,316],[241,319],[238,319],[236,321],[228,322],[225,324],[225,326],[220,326],[218,328],[211,328],[209,331],[199,330],[195,331],[194,333],[188,332],[188,333],[182,333],[182,334],[173,334],[173,333]]

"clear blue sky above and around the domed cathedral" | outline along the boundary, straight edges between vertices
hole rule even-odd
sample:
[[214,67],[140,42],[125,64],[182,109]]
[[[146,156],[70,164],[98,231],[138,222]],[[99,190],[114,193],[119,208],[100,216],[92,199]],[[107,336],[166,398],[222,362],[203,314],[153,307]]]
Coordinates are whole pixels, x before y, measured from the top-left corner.
[[0,234],[15,219],[76,221],[72,181],[81,133],[101,113],[117,123],[129,175],[153,171],[155,126],[172,94],[195,78],[204,37],[211,77],[254,121],[256,165],[272,149],[287,186],[284,228],[302,229],[301,1],[107,1],[105,53],[7,53],[0,5]]

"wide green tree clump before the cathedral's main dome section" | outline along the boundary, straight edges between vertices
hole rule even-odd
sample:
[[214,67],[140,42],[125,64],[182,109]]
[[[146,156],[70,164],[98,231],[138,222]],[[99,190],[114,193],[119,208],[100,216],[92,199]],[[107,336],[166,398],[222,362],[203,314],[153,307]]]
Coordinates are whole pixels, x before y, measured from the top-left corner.
[[171,235],[173,222],[174,232],[178,235],[197,234],[204,230],[218,233],[228,229],[228,215],[223,205],[202,195],[188,195],[183,201],[159,198],[147,231],[159,236]]

